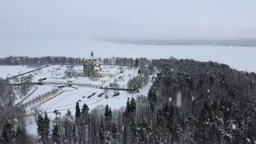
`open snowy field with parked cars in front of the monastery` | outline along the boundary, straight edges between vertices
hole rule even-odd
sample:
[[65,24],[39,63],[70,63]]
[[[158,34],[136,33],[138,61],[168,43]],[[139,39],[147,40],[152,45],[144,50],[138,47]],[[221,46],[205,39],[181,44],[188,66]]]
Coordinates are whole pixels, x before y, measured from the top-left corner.
[[[80,108],[82,108],[83,104],[86,104],[88,105],[89,109],[92,110],[98,105],[105,106],[108,104],[112,108],[112,110],[120,109],[120,107],[126,105],[127,98],[136,98],[138,95],[147,95],[151,85],[152,83],[148,83],[148,85],[146,87],[143,87],[139,93],[134,94],[126,91],[119,91],[120,95],[116,97],[112,97],[114,92],[110,91],[108,99],[105,99],[105,94],[103,94],[102,97],[97,97],[98,94],[103,92],[102,89],[79,87],[75,91],[63,93],[57,96],[56,98],[46,102],[45,104],[40,105],[39,109],[42,111],[47,111],[48,116],[51,119],[55,117],[55,114],[53,113],[54,110],[60,111],[61,116],[63,116],[69,109],[71,110],[72,115],[74,116],[75,103],[77,103],[78,100],[81,100],[79,102]],[[87,97],[92,93],[96,94],[92,96],[90,99],[88,99]],[[83,96],[85,96],[86,98],[83,99]],[[27,117],[27,130],[30,134],[37,133],[37,125],[36,122],[34,122],[33,116]]]

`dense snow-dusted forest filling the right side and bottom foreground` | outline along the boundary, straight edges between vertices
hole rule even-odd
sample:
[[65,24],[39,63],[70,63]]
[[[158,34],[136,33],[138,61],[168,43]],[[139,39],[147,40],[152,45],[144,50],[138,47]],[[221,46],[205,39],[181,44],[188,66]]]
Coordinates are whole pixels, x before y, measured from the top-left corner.
[[[162,70],[154,76],[147,97],[128,99],[119,110],[108,105],[89,110],[86,104],[80,110],[77,103],[74,118],[71,112],[59,118],[48,143],[255,141],[254,73],[189,59],[155,60],[153,64]],[[71,120],[64,124],[65,119]]]

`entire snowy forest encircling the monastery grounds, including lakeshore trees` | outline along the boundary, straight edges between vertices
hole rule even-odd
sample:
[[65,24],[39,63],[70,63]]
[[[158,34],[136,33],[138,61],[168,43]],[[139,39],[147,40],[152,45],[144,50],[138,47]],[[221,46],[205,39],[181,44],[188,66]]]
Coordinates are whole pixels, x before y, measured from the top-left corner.
[[[19,61],[17,61],[19,59]],[[100,59],[109,64],[110,58]],[[1,65],[82,64],[84,58],[7,57]],[[27,133],[26,112],[15,106],[15,86],[0,81],[0,143],[255,143],[256,74],[193,59],[116,58],[117,65],[149,67],[147,95],[112,109],[75,105],[75,113],[38,111],[37,134]],[[130,81],[132,83],[132,80]],[[29,88],[28,86],[26,88]],[[136,94],[136,93],[135,93]]]

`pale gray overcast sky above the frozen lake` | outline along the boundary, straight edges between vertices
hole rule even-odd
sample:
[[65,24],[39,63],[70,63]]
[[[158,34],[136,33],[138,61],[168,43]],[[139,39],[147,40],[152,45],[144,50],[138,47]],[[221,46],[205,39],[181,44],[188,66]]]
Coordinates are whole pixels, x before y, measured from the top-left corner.
[[255,0],[1,0],[0,39],[256,38]]

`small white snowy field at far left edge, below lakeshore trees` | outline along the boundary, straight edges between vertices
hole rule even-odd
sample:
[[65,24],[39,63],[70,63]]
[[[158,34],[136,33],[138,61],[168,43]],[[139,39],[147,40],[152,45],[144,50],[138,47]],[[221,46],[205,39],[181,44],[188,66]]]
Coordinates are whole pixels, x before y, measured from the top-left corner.
[[1,70],[0,77],[5,79],[7,76],[11,77],[14,75],[19,75],[34,69],[36,68],[28,68],[27,66],[22,66],[22,65],[0,65],[0,70]]

